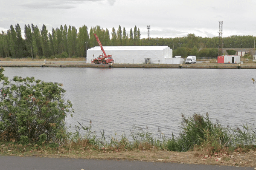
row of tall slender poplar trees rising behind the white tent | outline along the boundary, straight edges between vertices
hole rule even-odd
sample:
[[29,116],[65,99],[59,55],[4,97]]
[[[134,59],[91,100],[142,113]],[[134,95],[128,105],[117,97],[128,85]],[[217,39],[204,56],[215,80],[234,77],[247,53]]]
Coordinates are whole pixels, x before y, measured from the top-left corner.
[[112,29],[111,38],[108,29],[100,26],[90,28],[82,26],[79,31],[74,26],[60,26],[48,32],[45,25],[41,30],[33,24],[25,25],[22,37],[20,25],[10,26],[7,33],[0,34],[0,57],[86,57],[88,48],[98,46],[93,34],[97,34],[103,46],[141,45],[140,29],[131,28],[129,34],[119,26]]

